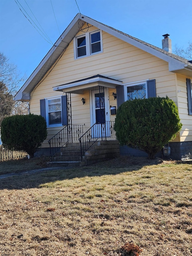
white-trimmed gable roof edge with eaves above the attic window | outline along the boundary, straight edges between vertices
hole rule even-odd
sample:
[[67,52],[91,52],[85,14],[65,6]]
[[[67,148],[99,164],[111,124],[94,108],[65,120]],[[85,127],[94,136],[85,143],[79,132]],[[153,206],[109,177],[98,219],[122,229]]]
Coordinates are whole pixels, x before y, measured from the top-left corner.
[[63,51],[67,48],[67,46],[79,32],[79,26],[82,27],[84,23],[89,23],[97,27],[98,29],[101,29],[115,36],[116,38],[122,39],[123,41],[132,44],[133,46],[140,48],[141,50],[144,50],[160,59],[167,61],[169,63],[169,71],[192,77],[192,64],[188,60],[179,57],[173,53],[168,53],[161,48],[155,47],[152,44],[148,44],[140,39],[134,38],[117,29],[114,29],[110,26],[107,26],[103,23],[100,23],[96,20],[93,20],[87,16],[78,13],[69,24],[69,26],[64,30],[62,35],[55,42],[53,47],[46,54],[44,59],[40,62],[35,71],[33,71],[31,76],[24,83],[22,88],[17,92],[17,94],[15,95],[15,100],[29,101],[30,92],[38,85],[38,83],[43,79],[46,73],[52,70],[52,68],[54,67],[53,64],[55,62],[57,63]]

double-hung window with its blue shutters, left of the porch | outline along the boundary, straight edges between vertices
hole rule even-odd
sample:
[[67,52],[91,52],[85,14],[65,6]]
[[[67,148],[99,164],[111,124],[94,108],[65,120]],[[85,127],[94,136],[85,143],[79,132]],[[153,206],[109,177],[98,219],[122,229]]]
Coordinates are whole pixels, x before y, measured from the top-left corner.
[[47,127],[67,125],[67,96],[40,100],[40,113],[47,123]]

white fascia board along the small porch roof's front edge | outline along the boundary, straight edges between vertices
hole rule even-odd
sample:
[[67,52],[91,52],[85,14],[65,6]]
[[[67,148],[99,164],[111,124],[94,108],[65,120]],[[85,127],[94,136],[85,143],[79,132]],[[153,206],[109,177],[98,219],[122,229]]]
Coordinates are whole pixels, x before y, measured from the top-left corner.
[[[70,83],[70,84],[65,84],[65,85],[60,85],[60,86],[53,87],[53,91],[63,91],[65,89],[68,89],[68,88],[71,88],[71,87],[74,88],[74,87],[77,87],[77,86],[84,86],[86,84],[91,84],[91,83],[106,83],[106,84],[110,84],[110,85],[114,85],[114,86],[122,84],[121,81],[110,80],[110,79],[103,78],[103,77],[95,77],[95,78],[91,78],[91,79],[88,79],[88,80],[82,80],[82,81],[79,81],[79,82],[76,82],[76,83]],[[116,87],[114,87],[114,88],[116,88]]]

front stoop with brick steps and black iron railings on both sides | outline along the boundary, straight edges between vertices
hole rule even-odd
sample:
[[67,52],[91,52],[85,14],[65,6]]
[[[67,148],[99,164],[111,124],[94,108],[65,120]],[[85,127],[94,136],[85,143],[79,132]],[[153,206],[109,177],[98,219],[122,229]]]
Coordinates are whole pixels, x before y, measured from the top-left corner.
[[87,131],[84,125],[66,125],[49,142],[49,166],[76,166],[120,155],[114,121],[94,124]]

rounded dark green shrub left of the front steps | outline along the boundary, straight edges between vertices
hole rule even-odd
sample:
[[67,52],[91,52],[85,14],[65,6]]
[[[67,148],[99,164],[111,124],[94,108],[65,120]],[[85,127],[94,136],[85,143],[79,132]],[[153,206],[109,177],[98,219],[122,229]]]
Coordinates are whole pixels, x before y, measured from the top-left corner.
[[1,123],[2,143],[10,150],[26,151],[30,157],[34,157],[46,137],[46,121],[42,116],[9,116]]

